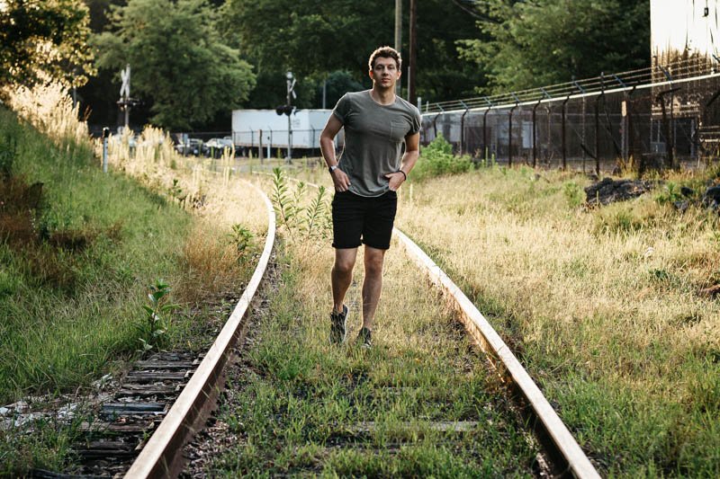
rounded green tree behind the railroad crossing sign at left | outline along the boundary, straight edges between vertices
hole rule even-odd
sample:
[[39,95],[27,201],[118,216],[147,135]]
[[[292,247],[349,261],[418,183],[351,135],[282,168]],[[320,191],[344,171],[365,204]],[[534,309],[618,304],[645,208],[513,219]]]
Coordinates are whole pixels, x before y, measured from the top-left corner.
[[112,31],[94,37],[98,66],[130,64],[131,93],[151,102],[150,119],[192,129],[237,108],[255,85],[252,67],[220,39],[205,0],[130,0],[114,8]]

